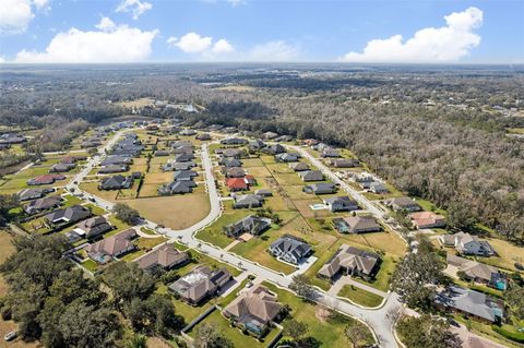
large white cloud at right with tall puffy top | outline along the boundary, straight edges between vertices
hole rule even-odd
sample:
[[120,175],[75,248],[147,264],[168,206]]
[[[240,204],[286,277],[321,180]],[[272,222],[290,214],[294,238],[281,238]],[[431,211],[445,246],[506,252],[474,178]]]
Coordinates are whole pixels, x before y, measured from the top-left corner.
[[346,62],[440,63],[467,56],[480,44],[474,29],[483,25],[483,11],[468,8],[444,16],[445,26],[422,28],[404,41],[402,35],[368,41],[362,52],[349,52]]

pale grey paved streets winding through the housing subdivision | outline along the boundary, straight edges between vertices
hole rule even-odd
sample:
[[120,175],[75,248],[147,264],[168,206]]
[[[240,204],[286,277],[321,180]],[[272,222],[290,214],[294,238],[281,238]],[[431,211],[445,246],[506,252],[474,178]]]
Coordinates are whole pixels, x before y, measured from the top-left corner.
[[[129,130],[127,130],[129,131]],[[73,189],[75,192],[82,192],[84,194],[84,199],[91,199],[93,203],[96,205],[109,211],[114,203],[105,201],[100,197],[97,197],[91,193],[83,192],[78,183],[82,181],[82,179],[87,176],[87,173],[100,163],[100,160],[105,156],[105,149],[109,149],[126,131],[120,131],[110,139],[107,144],[99,149],[99,156],[92,157],[88,159],[85,168],[79,172],[73,180],[67,185],[68,189]],[[297,149],[299,149],[297,147]],[[303,153],[303,149],[300,148],[300,153]],[[221,248],[214,247],[212,244],[203,243],[200,240],[194,238],[194,235],[200,229],[209,226],[212,224],[216,218],[219,217],[222,206],[218,192],[216,190],[215,179],[213,176],[213,164],[211,161],[211,157],[207,151],[207,145],[202,145],[202,166],[205,171],[205,184],[206,190],[210,195],[210,204],[211,211],[210,214],[201,221],[196,223],[195,225],[188,227],[182,230],[174,230],[170,228],[159,228],[157,224],[145,220],[145,225],[152,229],[157,230],[158,232],[166,235],[171,238],[171,241],[179,241],[190,248],[196,249],[202,253],[205,253],[212,257],[221,260],[222,262],[228,263],[234,265],[238,268],[245,269],[250,274],[255,275],[258,278],[270,280],[283,288],[288,288],[291,284],[291,277],[286,276],[281,273],[276,273],[272,269],[263,267],[257,263],[253,263],[249,260],[242,259],[236,254],[228,253]],[[308,154],[309,155],[309,154]],[[309,158],[309,156],[305,155]],[[334,176],[327,168],[323,166],[320,161],[315,158],[312,158],[312,163],[318,165],[319,169],[323,169],[323,171],[332,177],[333,180],[340,182],[338,178]],[[76,182],[76,183],[75,183]],[[342,184],[341,184],[342,185]],[[362,205],[368,206],[367,204],[362,203]],[[369,206],[369,209],[373,212],[376,209],[374,206]],[[379,340],[380,347],[390,348],[390,347],[397,347],[396,341],[393,336],[393,319],[389,315],[390,311],[397,310],[400,308],[400,303],[397,301],[397,297],[394,293],[391,293],[385,301],[385,304],[380,310],[367,310],[361,309],[359,307],[353,305],[348,302],[342,301],[336,297],[330,296],[323,291],[317,291],[317,302],[337,310],[344,314],[357,317],[362,322],[366,322],[374,332],[377,339]]]

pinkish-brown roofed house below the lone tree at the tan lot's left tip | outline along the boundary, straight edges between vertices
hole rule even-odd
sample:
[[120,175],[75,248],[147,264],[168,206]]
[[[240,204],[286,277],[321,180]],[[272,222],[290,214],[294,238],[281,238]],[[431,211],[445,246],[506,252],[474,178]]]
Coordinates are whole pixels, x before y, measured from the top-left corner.
[[104,238],[84,248],[87,255],[97,263],[107,263],[115,257],[120,257],[136,249],[132,242],[139,235],[133,228],[118,235]]

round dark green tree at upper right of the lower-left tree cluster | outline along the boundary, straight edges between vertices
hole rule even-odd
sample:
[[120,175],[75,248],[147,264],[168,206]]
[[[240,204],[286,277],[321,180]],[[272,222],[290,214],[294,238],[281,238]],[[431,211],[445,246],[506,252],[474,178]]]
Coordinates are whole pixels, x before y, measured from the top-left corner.
[[136,263],[117,262],[104,272],[104,281],[118,301],[145,300],[155,290],[155,279]]

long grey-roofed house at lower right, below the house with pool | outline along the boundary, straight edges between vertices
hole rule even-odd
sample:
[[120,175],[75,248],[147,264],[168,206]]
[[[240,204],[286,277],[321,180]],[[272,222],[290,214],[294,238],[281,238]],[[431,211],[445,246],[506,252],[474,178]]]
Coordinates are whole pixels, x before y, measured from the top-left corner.
[[500,323],[504,316],[502,300],[497,300],[483,292],[450,286],[439,292],[434,304],[444,310],[461,313],[485,323]]

